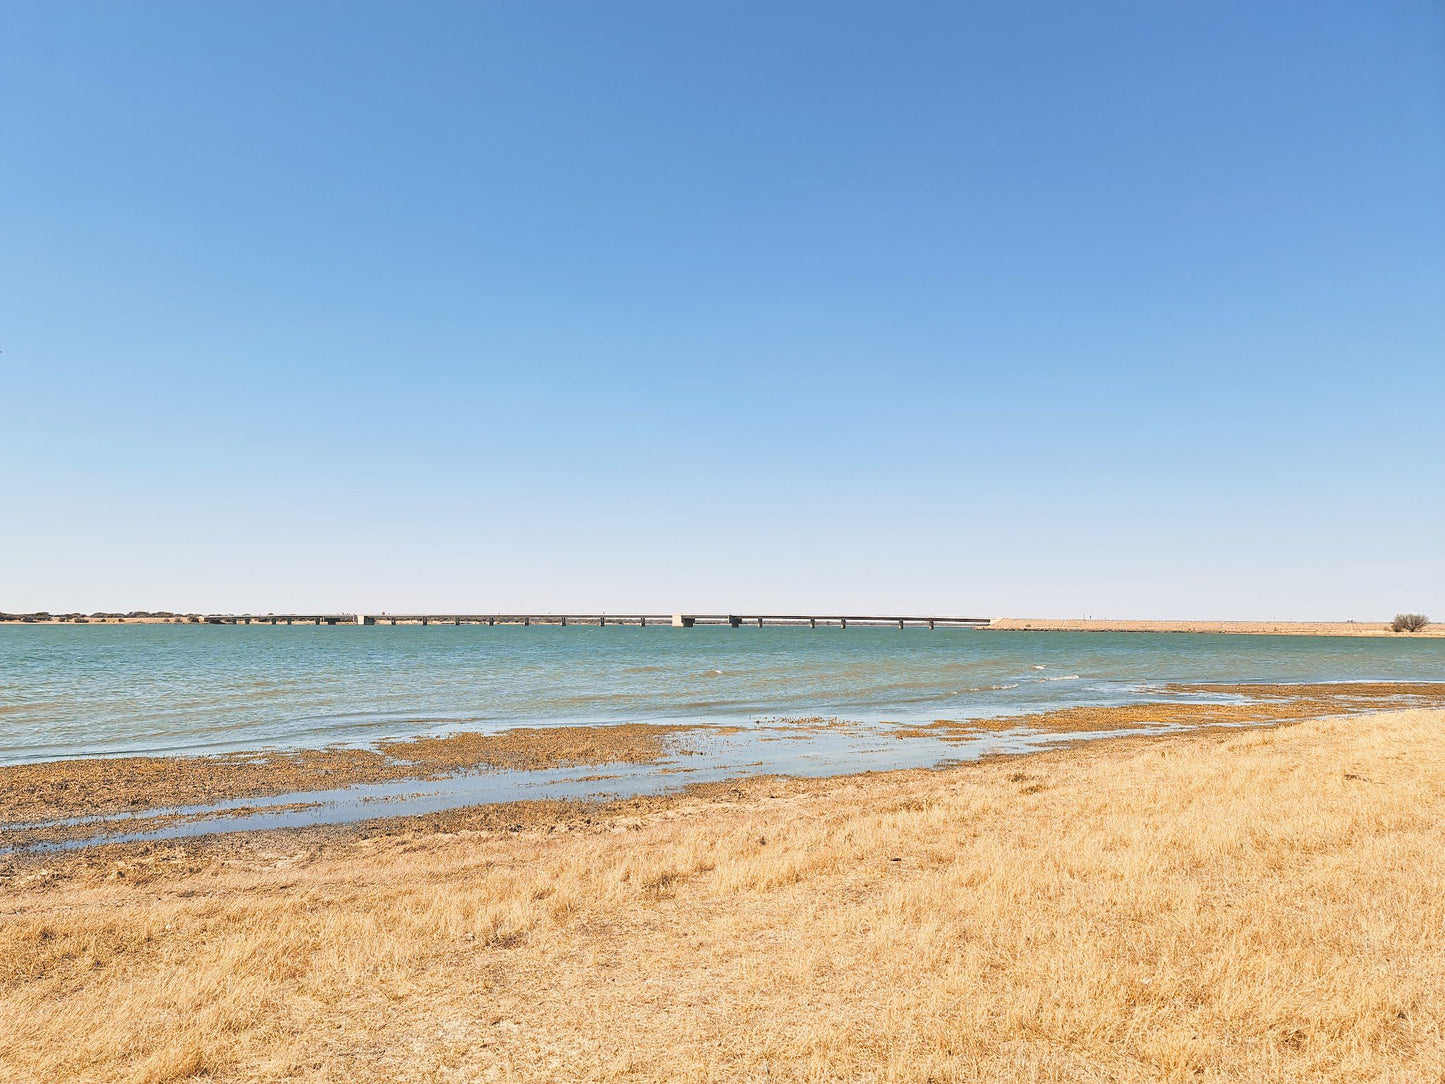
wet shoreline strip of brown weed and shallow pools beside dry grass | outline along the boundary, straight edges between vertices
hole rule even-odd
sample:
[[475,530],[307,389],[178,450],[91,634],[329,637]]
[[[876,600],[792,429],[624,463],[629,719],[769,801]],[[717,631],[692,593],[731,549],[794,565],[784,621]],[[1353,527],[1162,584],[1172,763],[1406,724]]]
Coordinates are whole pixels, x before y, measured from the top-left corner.
[[[568,795],[595,802],[618,793],[644,798],[676,791],[682,783],[678,773],[699,769],[702,775],[696,779],[724,786],[779,773],[847,778],[913,767],[938,770],[974,757],[1032,756],[1049,744],[1077,747],[1120,734],[1155,740],[1168,733],[1214,727],[1248,728],[1380,710],[1445,708],[1445,682],[1186,684],[1165,687],[1162,692],[1176,698],[883,727],[837,718],[769,720],[753,727],[647,723],[517,727],[491,734],[387,740],[371,749],[75,757],[7,765],[0,766],[0,850],[16,854],[53,847],[84,850],[124,835],[247,834],[270,831],[267,825],[277,817],[302,825],[308,818],[325,824],[327,817],[337,824],[360,824],[399,815],[386,812],[387,804],[393,809],[397,804],[407,808],[405,791],[425,789],[423,785],[438,793],[447,789],[445,796],[432,801],[434,812],[568,801]],[[762,744],[779,741],[809,750],[831,749],[837,767],[789,770],[789,763],[806,762],[796,759],[796,750]],[[722,754],[720,749],[731,753]],[[844,752],[850,749],[855,752]],[[549,769],[590,773],[540,779]],[[621,782],[624,775],[627,780]],[[533,799],[527,793],[540,796]],[[347,812],[321,812],[340,806],[347,806]],[[247,827],[247,818],[260,814],[264,817]]]

